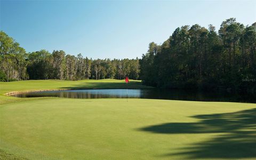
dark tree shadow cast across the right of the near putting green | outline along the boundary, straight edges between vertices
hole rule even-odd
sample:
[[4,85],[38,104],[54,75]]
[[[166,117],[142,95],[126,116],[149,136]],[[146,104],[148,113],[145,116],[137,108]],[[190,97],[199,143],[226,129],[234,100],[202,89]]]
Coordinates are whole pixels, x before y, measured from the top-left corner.
[[196,158],[256,158],[256,108],[235,113],[196,115],[198,123],[165,123],[143,127],[140,131],[163,134],[220,133],[209,141],[190,144],[175,153]]

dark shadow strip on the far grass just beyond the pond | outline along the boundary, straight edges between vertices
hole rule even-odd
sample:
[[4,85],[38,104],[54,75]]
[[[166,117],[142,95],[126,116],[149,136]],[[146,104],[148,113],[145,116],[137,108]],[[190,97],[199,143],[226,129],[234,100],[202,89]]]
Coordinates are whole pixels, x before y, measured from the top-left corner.
[[68,87],[61,87],[61,89],[68,90],[82,90],[82,89],[147,89],[151,88],[148,86],[141,85],[141,82],[129,82],[127,85],[125,82],[114,82],[114,83],[80,83],[78,85],[72,85]]

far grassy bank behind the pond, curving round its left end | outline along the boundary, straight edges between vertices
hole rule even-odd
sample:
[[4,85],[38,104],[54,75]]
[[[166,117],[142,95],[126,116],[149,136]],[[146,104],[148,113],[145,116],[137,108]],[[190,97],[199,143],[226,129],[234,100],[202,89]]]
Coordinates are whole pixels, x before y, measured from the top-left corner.
[[[60,81],[60,80],[30,80],[16,82],[0,82],[0,104],[31,100],[27,98],[7,97],[5,94],[17,91],[36,90],[76,90],[76,89],[145,89],[148,86],[141,85],[140,81],[130,80],[128,85],[124,79],[87,79],[81,81]],[[43,98],[34,98],[43,99]]]

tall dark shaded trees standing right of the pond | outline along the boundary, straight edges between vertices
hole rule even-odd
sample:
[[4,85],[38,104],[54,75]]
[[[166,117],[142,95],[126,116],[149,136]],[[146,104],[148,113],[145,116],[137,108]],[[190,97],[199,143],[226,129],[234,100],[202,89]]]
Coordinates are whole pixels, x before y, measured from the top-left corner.
[[209,25],[182,26],[162,45],[142,55],[140,76],[146,85],[182,89],[256,91],[256,23],[235,18]]

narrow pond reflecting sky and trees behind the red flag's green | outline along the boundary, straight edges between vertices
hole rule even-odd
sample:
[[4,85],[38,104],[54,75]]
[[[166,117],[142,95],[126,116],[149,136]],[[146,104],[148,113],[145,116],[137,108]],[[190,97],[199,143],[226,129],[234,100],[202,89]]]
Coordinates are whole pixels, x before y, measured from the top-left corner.
[[[12,95],[20,98],[61,97],[61,98],[126,98],[126,89],[104,90],[61,90],[27,92]],[[188,101],[225,101],[225,102],[256,102],[255,94],[211,93],[185,90],[129,89],[128,98],[168,99]]]

